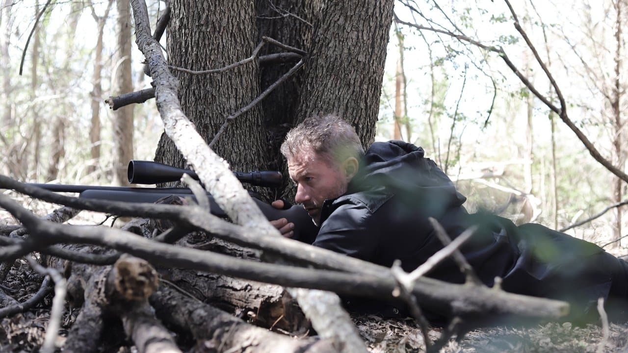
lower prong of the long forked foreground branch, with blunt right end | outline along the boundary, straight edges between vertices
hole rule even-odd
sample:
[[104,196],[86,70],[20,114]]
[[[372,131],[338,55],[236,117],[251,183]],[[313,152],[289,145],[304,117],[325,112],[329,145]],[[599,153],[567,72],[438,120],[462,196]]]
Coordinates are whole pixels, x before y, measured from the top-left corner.
[[[334,259],[336,263],[344,264],[344,268],[350,268],[351,264],[355,263],[360,264],[362,270],[356,271],[356,273],[340,273],[268,263],[252,263],[222,254],[173,247],[117,229],[45,222],[30,214],[5,195],[0,195],[0,205],[11,212],[16,219],[23,222],[31,234],[38,234],[41,239],[109,246],[163,266],[179,266],[283,286],[329,290],[345,295],[373,298],[393,298],[391,293],[396,287],[396,281],[386,274],[387,270],[383,274],[374,274],[375,271],[382,268],[381,266],[357,259],[348,260],[349,258],[346,256],[324,249],[318,249],[318,251],[330,254],[330,258],[333,256],[332,254],[335,254],[341,259],[348,260]],[[207,219],[208,215],[205,215],[204,218]],[[279,241],[279,239],[288,241],[286,244],[296,243],[296,241],[281,237],[273,240]],[[304,254],[301,255],[303,258],[313,253],[313,247],[305,244],[300,244],[300,246],[305,247],[305,249],[312,249],[310,253],[303,251]],[[563,301],[515,295],[492,290],[485,286],[455,285],[429,278],[421,278],[420,281],[417,281],[412,288],[412,293],[422,303],[431,305],[435,310],[461,317],[477,315],[478,313],[483,313],[483,315],[511,313],[529,317],[558,318],[566,315],[569,307]]]

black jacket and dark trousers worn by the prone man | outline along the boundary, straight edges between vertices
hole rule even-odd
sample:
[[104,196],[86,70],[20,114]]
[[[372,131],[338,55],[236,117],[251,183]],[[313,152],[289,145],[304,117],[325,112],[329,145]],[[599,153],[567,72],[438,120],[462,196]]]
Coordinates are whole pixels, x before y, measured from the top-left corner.
[[[539,224],[517,227],[495,215],[470,215],[465,200],[422,148],[403,141],[374,143],[347,193],[323,203],[313,245],[387,267],[400,259],[411,271],[443,247],[428,221],[433,217],[452,239],[479,225],[460,249],[488,286],[499,276],[504,290],[568,300],[571,319],[595,311],[600,296],[626,298],[624,261]],[[464,282],[451,260],[428,276]]]

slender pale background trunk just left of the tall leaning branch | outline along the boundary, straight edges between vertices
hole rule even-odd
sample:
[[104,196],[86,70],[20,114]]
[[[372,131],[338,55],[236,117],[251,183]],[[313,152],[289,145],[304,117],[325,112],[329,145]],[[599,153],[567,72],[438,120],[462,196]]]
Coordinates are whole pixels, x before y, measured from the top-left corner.
[[[129,0],[116,0],[116,60],[114,60],[115,85],[112,95],[133,92],[131,77],[131,4]],[[129,185],[126,166],[133,159],[133,105],[114,112],[114,183]]]

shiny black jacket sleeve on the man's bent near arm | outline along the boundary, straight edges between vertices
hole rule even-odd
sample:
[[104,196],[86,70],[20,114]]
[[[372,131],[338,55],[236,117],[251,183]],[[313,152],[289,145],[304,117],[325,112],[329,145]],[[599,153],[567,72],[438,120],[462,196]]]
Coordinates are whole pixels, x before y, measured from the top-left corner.
[[372,261],[377,249],[377,238],[374,229],[369,227],[371,216],[364,206],[340,205],[323,222],[312,245]]

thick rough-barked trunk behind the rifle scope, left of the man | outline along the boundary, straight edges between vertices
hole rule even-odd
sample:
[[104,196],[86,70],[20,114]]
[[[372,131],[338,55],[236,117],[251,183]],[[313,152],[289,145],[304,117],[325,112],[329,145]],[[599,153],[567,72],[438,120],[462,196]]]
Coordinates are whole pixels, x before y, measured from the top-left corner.
[[[170,65],[190,70],[224,67],[250,57],[256,40],[252,2],[175,0],[171,3]],[[180,80],[181,107],[207,143],[226,117],[259,94],[258,73],[256,62],[209,75],[173,70]],[[212,149],[229,162],[232,170],[266,169],[269,148],[263,126],[261,107],[257,105],[231,121]],[[155,161],[185,166],[181,154],[165,134],[161,136]]]

